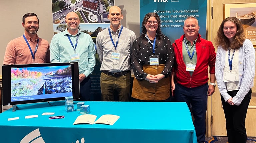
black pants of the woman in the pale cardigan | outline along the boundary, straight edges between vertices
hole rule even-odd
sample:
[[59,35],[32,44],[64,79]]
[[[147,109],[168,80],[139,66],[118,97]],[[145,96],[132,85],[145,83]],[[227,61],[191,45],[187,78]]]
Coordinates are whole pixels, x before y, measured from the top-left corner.
[[[228,94],[231,97],[234,97],[237,92],[238,90],[228,91]],[[229,143],[246,143],[245,117],[251,100],[251,95],[252,89],[249,90],[241,104],[238,106],[229,105],[221,96]]]

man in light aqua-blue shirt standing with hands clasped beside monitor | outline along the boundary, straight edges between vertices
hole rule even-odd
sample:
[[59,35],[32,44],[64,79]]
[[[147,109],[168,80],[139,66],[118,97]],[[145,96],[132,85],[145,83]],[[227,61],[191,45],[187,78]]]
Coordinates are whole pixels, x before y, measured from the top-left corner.
[[67,29],[53,36],[50,44],[51,63],[78,62],[80,81],[80,100],[90,100],[91,79],[95,61],[95,48],[90,35],[81,32],[80,19],[70,12],[65,20]]

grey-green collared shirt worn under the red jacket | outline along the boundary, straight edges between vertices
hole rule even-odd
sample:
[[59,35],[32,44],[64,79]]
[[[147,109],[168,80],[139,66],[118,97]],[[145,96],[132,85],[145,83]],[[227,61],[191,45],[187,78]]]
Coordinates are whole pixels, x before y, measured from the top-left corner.
[[[196,40],[197,40],[197,38],[196,38]],[[191,42],[188,41],[187,38],[185,37],[185,41],[186,41],[187,46],[188,46],[188,51],[189,51],[191,56],[192,56],[193,50],[196,46],[196,40],[193,41],[193,45],[192,45]],[[192,60],[190,60],[184,42],[182,42],[182,55],[183,55],[183,61],[184,61],[185,65],[187,65],[187,62],[189,62],[189,63],[192,62],[193,64],[196,64],[196,61],[197,61],[196,51],[195,51],[195,54],[194,54]],[[189,73],[190,73],[190,76],[192,76],[193,72],[189,71]]]

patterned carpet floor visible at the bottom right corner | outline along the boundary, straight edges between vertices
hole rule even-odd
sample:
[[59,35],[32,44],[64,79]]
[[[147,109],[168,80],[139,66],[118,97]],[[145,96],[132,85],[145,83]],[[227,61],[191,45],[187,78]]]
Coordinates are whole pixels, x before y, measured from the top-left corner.
[[[226,136],[212,136],[206,137],[205,143],[228,143],[228,137]],[[256,137],[247,137],[246,143],[256,143]]]

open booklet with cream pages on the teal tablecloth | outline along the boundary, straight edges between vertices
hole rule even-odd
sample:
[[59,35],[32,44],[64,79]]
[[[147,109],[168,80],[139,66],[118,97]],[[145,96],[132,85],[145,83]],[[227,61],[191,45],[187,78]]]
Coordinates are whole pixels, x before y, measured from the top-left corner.
[[[120,116],[117,115],[102,115],[98,120],[95,121],[96,115],[91,115],[91,114],[84,114],[80,115],[76,118],[75,124],[108,124],[108,125],[113,125]],[[95,122],[94,122],[95,121]]]

